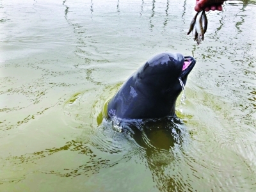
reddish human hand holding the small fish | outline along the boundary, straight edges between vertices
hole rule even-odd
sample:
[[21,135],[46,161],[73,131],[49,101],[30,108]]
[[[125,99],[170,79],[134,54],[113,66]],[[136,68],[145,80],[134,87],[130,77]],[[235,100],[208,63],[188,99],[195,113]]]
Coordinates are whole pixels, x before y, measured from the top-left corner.
[[200,12],[203,9],[205,12],[209,12],[210,10],[222,11],[222,4],[227,0],[196,0],[195,11]]

